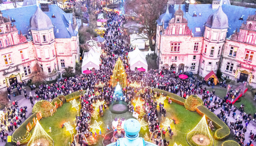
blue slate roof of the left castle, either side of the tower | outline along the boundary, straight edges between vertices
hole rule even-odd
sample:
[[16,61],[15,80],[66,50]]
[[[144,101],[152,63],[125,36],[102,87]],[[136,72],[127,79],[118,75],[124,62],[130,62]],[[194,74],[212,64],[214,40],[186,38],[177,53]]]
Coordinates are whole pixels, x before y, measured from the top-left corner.
[[[40,7],[40,6],[39,6]],[[37,5],[29,5],[25,7],[13,8],[3,10],[3,16],[15,20],[14,24],[18,30],[21,30],[22,34],[29,34],[29,26],[30,26],[30,18],[34,15],[37,10]],[[69,33],[69,19],[72,20],[72,13],[65,13],[60,7],[57,5],[49,5],[49,12],[44,12],[52,21],[53,31],[55,38],[71,38],[72,36],[77,35],[77,31],[73,30],[74,33]],[[52,18],[52,15],[56,18]],[[78,22],[77,22],[78,23]],[[57,32],[59,29],[59,32]]]

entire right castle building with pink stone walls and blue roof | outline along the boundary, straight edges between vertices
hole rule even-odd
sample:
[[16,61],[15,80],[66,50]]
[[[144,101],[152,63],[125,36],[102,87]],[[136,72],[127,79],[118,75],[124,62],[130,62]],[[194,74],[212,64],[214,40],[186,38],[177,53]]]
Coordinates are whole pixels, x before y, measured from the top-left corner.
[[223,77],[256,85],[255,11],[220,0],[167,4],[157,20],[159,69],[189,71],[202,77],[220,69]]

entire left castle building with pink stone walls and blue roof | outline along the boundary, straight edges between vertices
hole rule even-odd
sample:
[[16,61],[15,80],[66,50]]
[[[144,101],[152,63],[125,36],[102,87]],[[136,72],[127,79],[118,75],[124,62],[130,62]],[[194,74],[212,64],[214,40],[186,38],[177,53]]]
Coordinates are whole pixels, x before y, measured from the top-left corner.
[[27,81],[38,68],[54,80],[79,59],[78,23],[57,5],[41,3],[0,12],[0,89]]

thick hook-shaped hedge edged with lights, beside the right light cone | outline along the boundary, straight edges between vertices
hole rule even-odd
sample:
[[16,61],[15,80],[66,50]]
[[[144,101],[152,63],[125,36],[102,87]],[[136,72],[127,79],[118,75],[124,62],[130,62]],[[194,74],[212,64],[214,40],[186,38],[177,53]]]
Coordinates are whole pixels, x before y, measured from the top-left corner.
[[218,128],[216,132],[214,133],[214,138],[223,141],[224,139],[229,137],[230,130],[229,127],[221,120],[219,119],[214,113],[209,111],[206,107],[203,105],[199,105],[196,109],[196,112],[203,116],[206,116],[206,119],[210,119],[212,121],[212,124]]

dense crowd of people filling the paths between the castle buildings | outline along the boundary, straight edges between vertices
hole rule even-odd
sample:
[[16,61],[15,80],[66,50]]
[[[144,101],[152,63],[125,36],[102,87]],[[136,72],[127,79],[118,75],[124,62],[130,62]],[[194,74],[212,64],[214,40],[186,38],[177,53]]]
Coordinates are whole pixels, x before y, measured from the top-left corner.
[[[103,10],[100,10],[103,12]],[[114,64],[117,61],[118,57],[123,61],[124,66],[128,66],[127,55],[129,51],[133,51],[133,48],[127,42],[124,31],[122,29],[122,24],[125,22],[125,18],[123,16],[118,15],[116,12],[106,12],[107,23],[105,25],[106,32],[104,34],[105,44],[104,44],[104,52],[105,54],[101,55],[101,66],[99,70],[95,70],[95,72],[86,75],[76,75],[74,77],[69,78],[61,78],[60,81],[55,82],[53,84],[44,84],[40,85],[38,89],[35,89],[35,86],[31,86],[31,90],[35,90],[35,94],[32,95],[30,92],[28,95],[26,93],[26,89],[23,90],[24,96],[27,99],[30,99],[31,106],[33,107],[34,101],[37,102],[39,100],[51,100],[59,95],[68,95],[72,92],[78,90],[86,91],[85,94],[80,95],[81,108],[79,114],[76,116],[76,131],[77,133],[84,134],[88,139],[90,137],[95,137],[96,133],[90,131],[90,123],[91,123],[91,113],[93,113],[93,103],[96,103],[97,100],[105,101],[105,104],[99,106],[99,110],[102,112],[106,110],[107,107],[118,99],[113,98],[114,87],[112,87],[109,83],[110,77],[112,76]],[[202,100],[205,106],[212,112],[217,109],[221,109],[217,114],[218,118],[222,119],[227,125],[229,123],[229,116],[236,115],[236,107],[232,103],[227,102],[225,99],[219,99],[215,95],[215,91],[208,91],[204,84],[208,84],[208,82],[203,79],[189,78],[188,80],[179,80],[177,78],[178,73],[174,71],[170,72],[170,76],[163,75],[163,70],[149,70],[148,72],[139,72],[132,71],[127,69],[127,83],[139,82],[140,88],[127,87],[123,89],[123,97],[119,100],[123,100],[128,103],[128,108],[130,112],[145,112],[143,118],[145,121],[149,123],[148,129],[150,132],[150,137],[153,135],[154,143],[159,146],[168,146],[169,140],[166,140],[166,137],[172,139],[173,130],[171,127],[167,127],[164,129],[161,127],[160,122],[163,120],[163,117],[166,116],[166,109],[164,107],[164,103],[154,102],[154,99],[159,97],[161,93],[151,92],[151,89],[158,88],[168,92],[172,92],[174,94],[180,95],[181,97],[187,99],[189,95],[202,95]],[[173,79],[174,78],[174,79]],[[106,83],[105,86],[95,88],[96,84],[99,82]],[[210,84],[212,84],[210,82]],[[225,83],[221,83],[220,86],[225,86]],[[7,88],[8,93],[10,94],[12,89],[17,88],[19,94],[22,91],[22,84],[11,85],[11,87]],[[146,88],[145,92],[141,92],[144,87]],[[96,95],[96,90],[98,94]],[[163,95],[166,96],[166,95]],[[236,92],[231,90],[227,97],[236,96]],[[140,97],[141,100],[144,101],[142,108],[133,107],[131,102],[135,99],[135,97]],[[10,99],[11,100],[11,99]],[[172,101],[168,99],[168,103],[171,104]],[[17,103],[18,104],[18,103]],[[1,139],[4,141],[4,138],[7,136],[6,131],[13,131],[14,127],[18,128],[21,124],[21,119],[26,118],[26,107],[18,107],[16,102],[12,107],[6,108],[5,117],[1,118]],[[134,110],[135,108],[135,110]],[[243,109],[243,106],[241,107]],[[254,115],[254,118],[256,115]],[[246,127],[243,127],[242,123],[245,125],[252,120],[251,114],[247,115],[246,113],[241,112],[241,118],[238,114],[236,116],[236,121],[230,121],[230,129],[231,133],[234,135],[234,138],[237,139],[240,145],[244,143],[244,137],[246,132]],[[175,122],[175,121],[174,121]],[[214,130],[214,126],[211,121],[207,121],[211,130]],[[8,127],[6,129],[5,127]],[[167,134],[166,134],[167,133]],[[99,134],[99,133],[98,133]],[[101,134],[101,131],[100,131]],[[161,139],[161,134],[163,134],[163,139]],[[252,141],[256,140],[256,135],[251,131],[250,133],[250,141],[246,143],[246,146],[251,146]],[[78,136],[72,142],[72,146],[87,146],[88,143],[84,140],[83,137]]]

